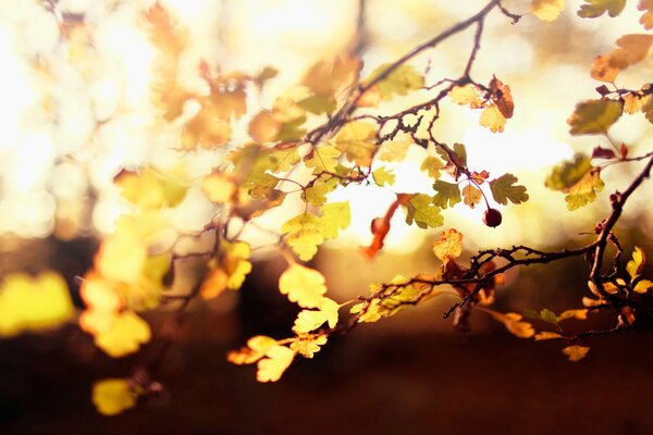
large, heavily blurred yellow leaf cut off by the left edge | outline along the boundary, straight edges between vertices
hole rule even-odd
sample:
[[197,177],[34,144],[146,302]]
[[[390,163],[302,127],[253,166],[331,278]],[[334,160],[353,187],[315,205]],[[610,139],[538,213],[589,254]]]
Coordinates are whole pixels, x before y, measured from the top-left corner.
[[54,272],[10,274],[0,288],[0,336],[58,326],[74,314],[65,282]]

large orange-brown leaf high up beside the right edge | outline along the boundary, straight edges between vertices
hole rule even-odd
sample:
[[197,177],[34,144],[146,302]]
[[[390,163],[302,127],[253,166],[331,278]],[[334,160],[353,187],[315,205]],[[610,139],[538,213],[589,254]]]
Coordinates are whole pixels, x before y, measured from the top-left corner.
[[594,59],[591,71],[592,78],[614,83],[619,72],[646,58],[652,44],[653,35],[621,36],[617,39],[618,48]]

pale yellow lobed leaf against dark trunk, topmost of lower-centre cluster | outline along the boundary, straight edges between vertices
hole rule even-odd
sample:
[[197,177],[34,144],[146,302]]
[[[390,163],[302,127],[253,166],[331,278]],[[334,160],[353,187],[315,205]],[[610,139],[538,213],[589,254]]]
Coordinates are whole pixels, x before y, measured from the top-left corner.
[[279,278],[279,291],[301,308],[319,308],[326,293],[324,275],[315,269],[292,263]]

